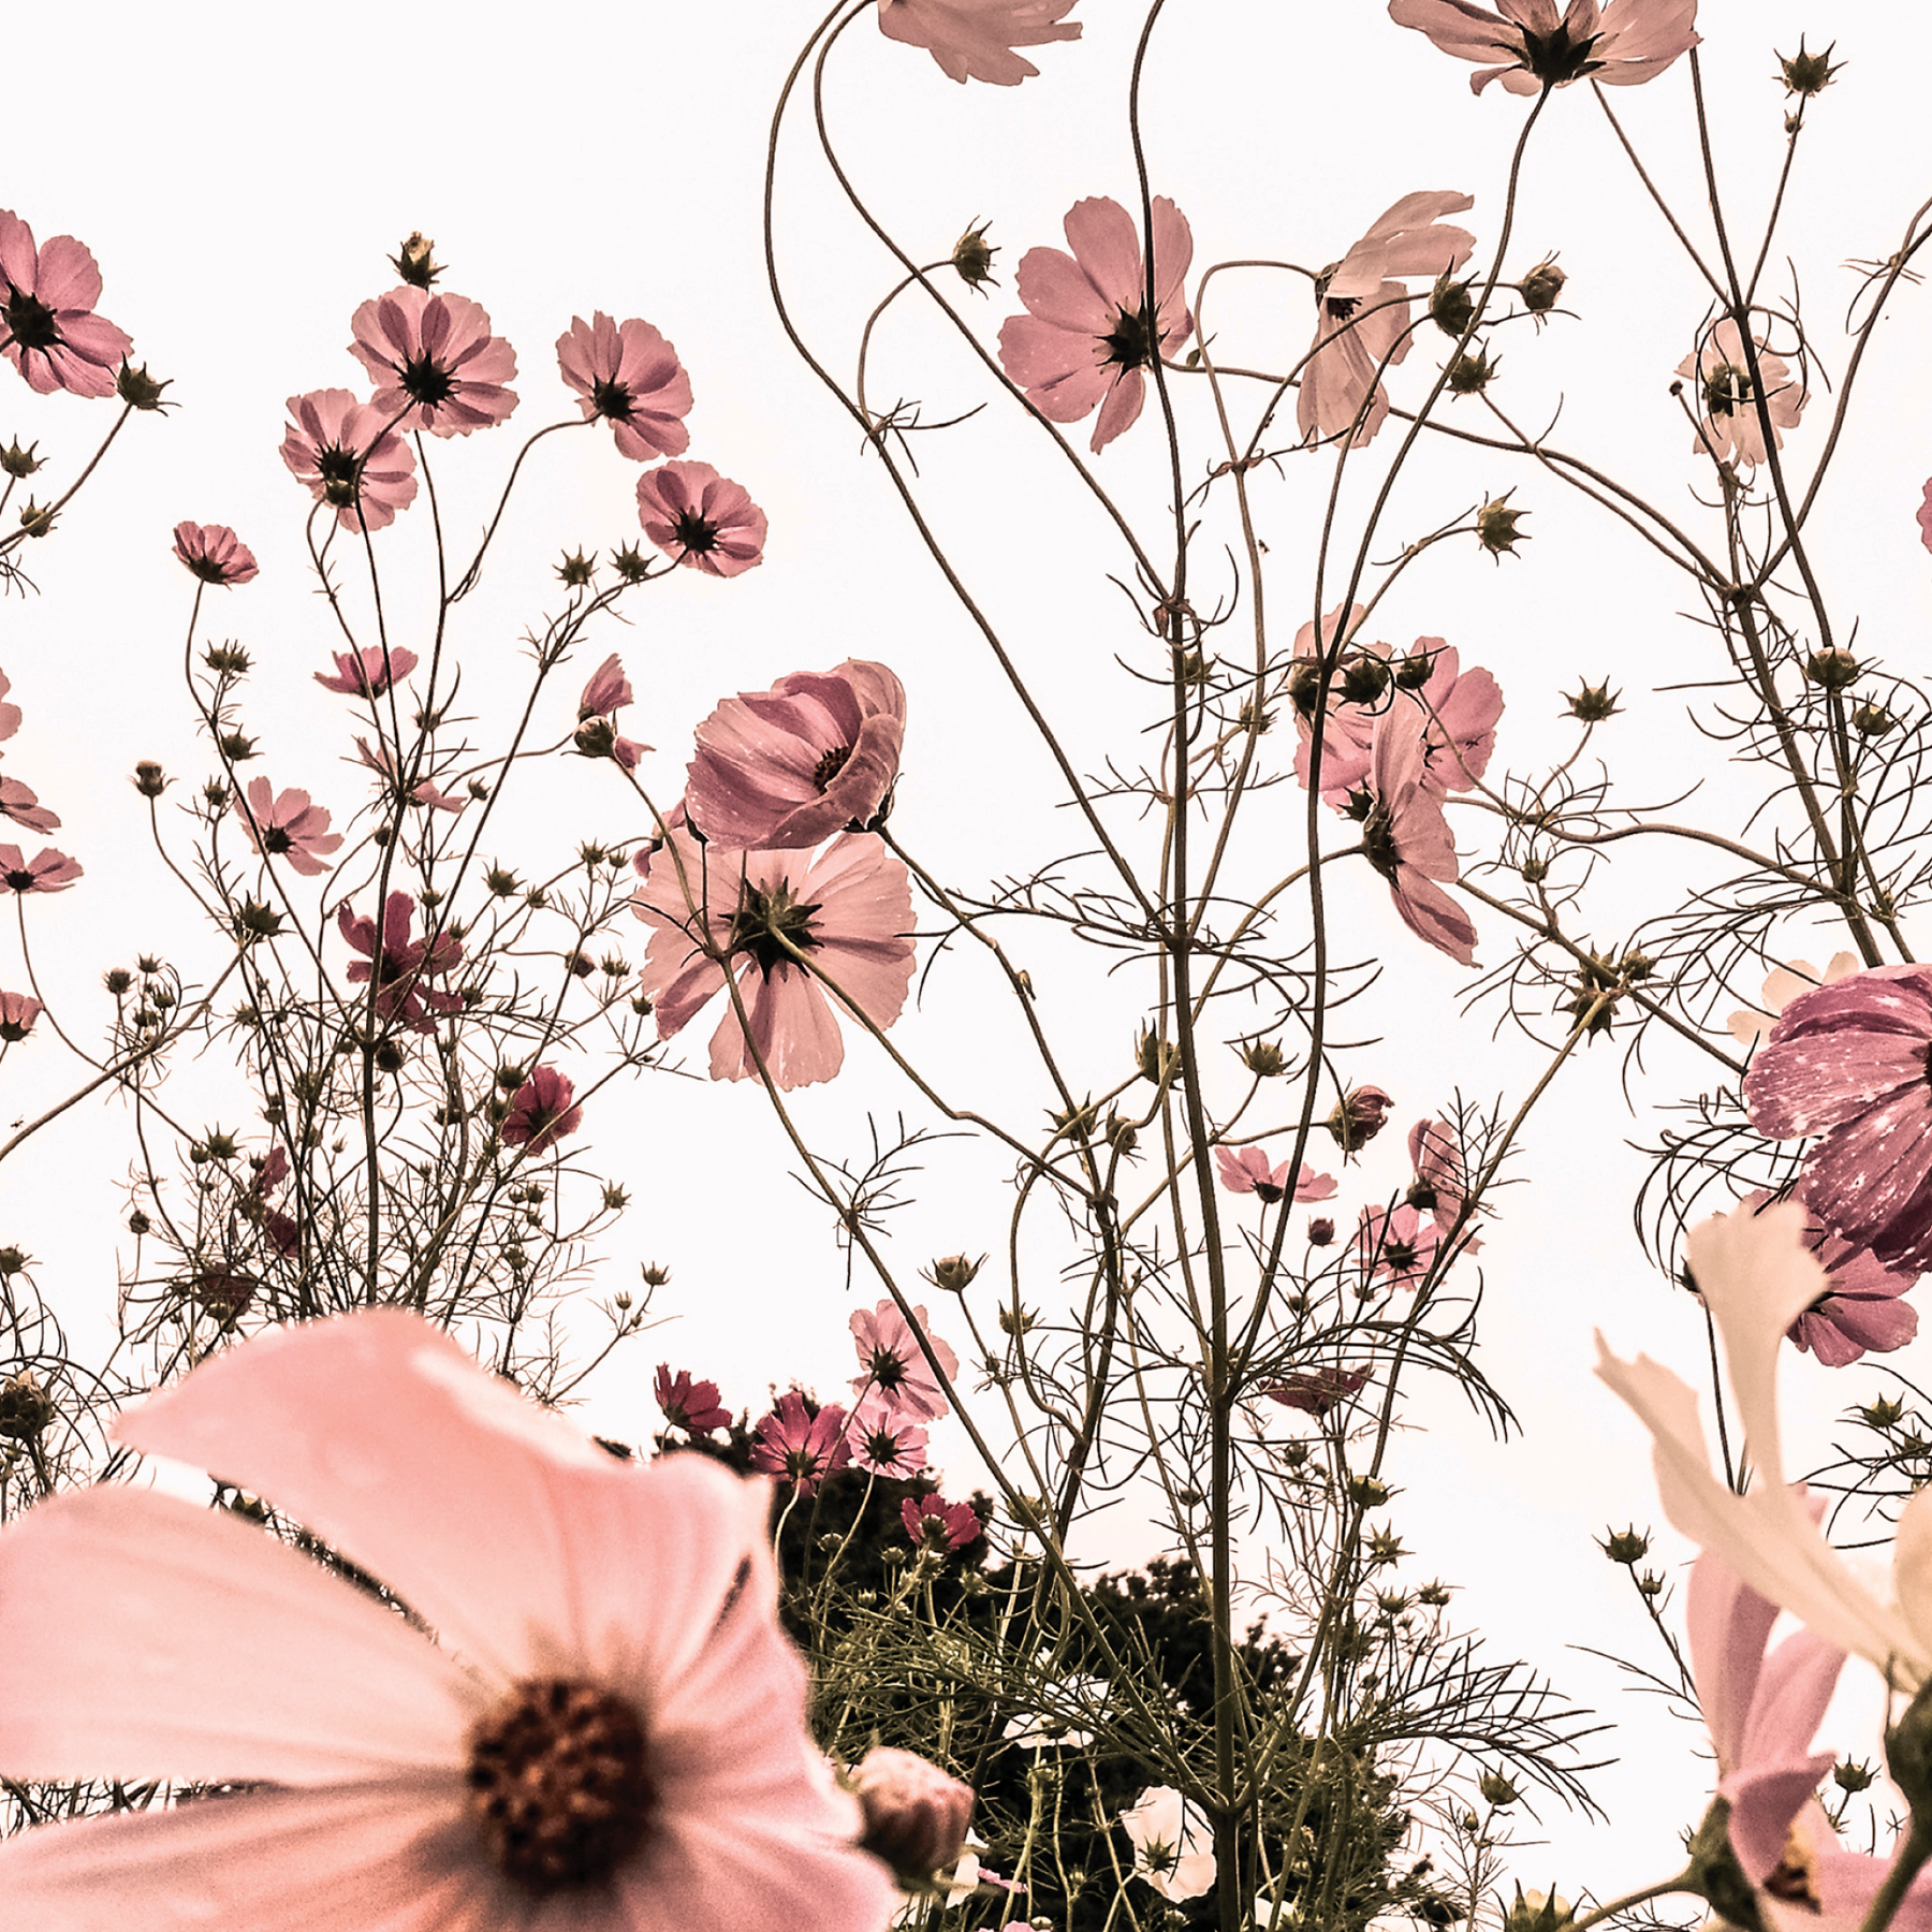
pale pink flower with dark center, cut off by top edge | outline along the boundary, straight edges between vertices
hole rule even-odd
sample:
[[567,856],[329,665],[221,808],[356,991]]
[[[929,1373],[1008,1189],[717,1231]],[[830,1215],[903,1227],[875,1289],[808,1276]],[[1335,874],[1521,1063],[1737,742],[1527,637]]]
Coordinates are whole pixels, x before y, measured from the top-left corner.
[[1602,81],[1636,87],[1698,44],[1696,0],[1389,0],[1397,27],[1416,27],[1457,60],[1493,60],[1468,77],[1472,93],[1501,81],[1513,95]]

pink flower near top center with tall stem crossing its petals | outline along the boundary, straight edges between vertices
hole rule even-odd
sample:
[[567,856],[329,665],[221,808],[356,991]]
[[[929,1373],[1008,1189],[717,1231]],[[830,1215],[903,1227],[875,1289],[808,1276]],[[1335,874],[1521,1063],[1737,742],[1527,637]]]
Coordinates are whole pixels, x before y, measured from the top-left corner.
[[1194,317],[1182,299],[1194,234],[1165,197],[1153,197],[1153,313],[1134,218],[1105,195],[1066,211],[1066,245],[1028,249],[1018,292],[1026,315],[999,328],[999,359],[1049,423],[1078,423],[1099,408],[1090,448],[1101,450],[1132,429],[1146,402],[1146,369],[1173,355]]

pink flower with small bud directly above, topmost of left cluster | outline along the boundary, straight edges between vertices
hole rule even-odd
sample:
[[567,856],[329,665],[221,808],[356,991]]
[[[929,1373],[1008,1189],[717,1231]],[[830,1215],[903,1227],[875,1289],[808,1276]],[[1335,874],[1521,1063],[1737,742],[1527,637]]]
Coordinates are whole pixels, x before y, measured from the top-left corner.
[[468,296],[406,282],[365,301],[350,330],[350,354],[369,371],[371,408],[384,423],[468,437],[516,408],[516,390],[504,388],[516,375],[516,350],[489,332],[489,313]]

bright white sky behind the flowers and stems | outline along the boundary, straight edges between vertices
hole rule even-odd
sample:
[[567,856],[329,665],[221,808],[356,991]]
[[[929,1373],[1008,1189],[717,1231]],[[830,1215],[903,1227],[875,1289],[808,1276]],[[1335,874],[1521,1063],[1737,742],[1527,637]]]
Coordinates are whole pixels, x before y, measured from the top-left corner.
[[[842,151],[875,213],[920,259],[943,257],[970,218],[991,218],[1001,288],[966,299],[991,342],[1014,313],[1012,270],[1026,247],[1061,243],[1059,222],[1082,195],[1134,199],[1121,112],[1140,10],[1086,0],[1086,39],[1039,52],[1043,77],[1016,91],[958,89],[914,50],[885,43],[869,23],[848,33],[829,89]],[[27,721],[6,748],[6,771],[35,784],[66,817],[64,850],[87,866],[79,889],[33,910],[44,983],[83,1036],[106,1020],[99,974],[137,949],[185,956],[191,908],[170,893],[143,833],[141,802],[126,784],[137,757],[160,757],[199,782],[209,759],[195,746],[180,690],[182,630],[191,585],[168,553],[180,518],[234,524],[261,560],[255,585],[211,597],[205,630],[236,636],[255,657],[249,724],[265,740],[253,767],[278,786],[301,784],[348,811],[361,792],[342,771],[348,707],[309,682],[325,668],[332,632],[303,576],[305,493],[276,448],[284,398],[328,384],[361,388],[344,350],[355,303],[392,286],[384,257],[423,228],[450,265],[440,286],[481,301],[518,350],[522,408],[508,429],[435,450],[444,524],[471,529],[514,454],[518,431],[576,413],[551,344],[572,315],[603,307],[643,315],[678,346],[692,373],[694,458],[740,479],[771,516],[761,570],[730,583],[678,572],[632,601],[636,626],[609,626],[583,653],[587,672],[622,649],[639,703],[632,736],[659,746],[645,775],[668,802],[678,790],[692,726],[724,694],[761,688],[796,668],[848,655],[891,663],[910,690],[906,779],[895,825],[945,879],[972,887],[1026,871],[1070,846],[1065,815],[1049,815],[1055,781],[1026,738],[1024,719],[985,661],[978,638],[916,547],[877,466],[860,460],[848,421],[796,363],[771,315],[757,242],[765,118],[811,10],[777,0],[732,8],[574,6],[537,31],[510,10],[408,6],[313,15],[243,6],[176,10],[164,33],[153,14],[97,14],[102,52],[75,66],[58,14],[10,23],[8,151],[0,205],[44,242],[75,234],[106,276],[102,311],[135,336],[137,355],[174,377],[180,410],[137,419],[62,531],[29,556],[41,597],[0,605],[0,668]],[[723,25],[721,25],[723,23]],[[1922,199],[1922,75],[1932,23],[1899,4],[1708,0],[1706,73],[1721,139],[1721,168],[1737,228],[1752,240],[1776,170],[1783,112],[1772,48],[1791,50],[1806,29],[1833,35],[1849,62],[1816,104],[1787,205],[1781,247],[1799,265],[1806,315],[1835,375],[1837,325],[1853,278],[1847,257],[1888,253]],[[1146,99],[1153,187],[1190,216],[1196,274],[1215,259],[1285,255],[1320,267],[1341,255],[1399,195],[1457,187],[1476,195],[1461,220],[1488,263],[1501,182],[1526,106],[1492,91],[1474,100],[1468,68],[1420,35],[1389,25],[1379,6],[1281,6],[1279,0],[1173,0],[1155,43]],[[31,79],[29,79],[31,77]],[[1683,66],[1615,97],[1696,234],[1689,75]],[[889,286],[879,251],[858,232],[804,145],[792,149],[781,197],[782,257],[798,311],[829,359],[850,369],[858,323]],[[1563,404],[1555,440],[1602,460],[1706,537],[1716,520],[1690,497],[1689,433],[1665,386],[1690,348],[1704,303],[1689,269],[1642,199],[1609,129],[1582,89],[1551,102],[1538,129],[1507,269],[1520,274],[1559,249],[1571,272],[1567,305],[1580,321],[1540,338],[1526,328],[1497,342],[1497,398],[1522,423]],[[1223,359],[1285,367],[1310,332],[1306,284],[1225,278],[1213,327]],[[1766,286],[1789,290],[1774,270]],[[1814,554],[1841,628],[1901,670],[1922,667],[1928,558],[1913,512],[1932,469],[1924,435],[1926,379],[1918,344],[1926,298],[1901,290],[1893,321],[1864,375],[1835,483],[1814,524]],[[1418,340],[1397,400],[1420,396],[1437,357]],[[949,415],[989,394],[956,342],[918,303],[881,330],[875,394],[918,396]],[[1463,412],[1474,419],[1476,406]],[[0,381],[0,439],[39,437],[56,460],[46,481],[71,475],[108,421],[108,404],[33,398]],[[1188,475],[1217,454],[1206,394],[1180,392],[1190,439]],[[1818,446],[1814,400],[1789,439],[1799,469]],[[1084,448],[1086,427],[1076,431]],[[1285,440],[1285,439],[1283,439]],[[1372,448],[1393,450],[1393,431]],[[1032,425],[991,410],[962,431],[920,442],[927,502],[952,554],[1049,713],[1065,721],[1082,769],[1109,750],[1132,757],[1144,688],[1115,657],[1151,668],[1155,653],[1107,572],[1124,572],[1103,520],[1082,500]],[[1167,543],[1165,468],[1150,417],[1095,462],[1136,516],[1150,545]],[[520,674],[518,638],[556,609],[551,566],[580,543],[609,551],[638,537],[636,466],[603,431],[553,439],[533,458],[483,595],[454,639],[466,697],[506,701]],[[1271,543],[1275,647],[1279,630],[1308,614],[1310,508],[1327,481],[1325,458],[1291,458],[1262,473],[1256,497]],[[1598,738],[1627,802],[1683,788],[1710,752],[1683,723],[1683,699],[1652,686],[1692,676],[1710,659],[1706,634],[1675,612],[1679,583],[1621,527],[1567,504],[1555,485],[1501,458],[1426,450],[1397,493],[1378,556],[1480,500],[1517,487],[1534,516],[1520,562],[1493,568],[1472,541],[1443,547],[1414,570],[1376,626],[1399,647],[1445,636],[1464,665],[1488,665],[1509,709],[1497,769],[1532,769],[1561,755],[1559,690],[1609,674],[1627,715]],[[1350,493],[1360,500],[1360,491]],[[1229,526],[1231,531],[1233,526]],[[384,560],[421,558],[423,504],[383,537]],[[1198,585],[1211,595],[1215,547],[1198,553]],[[1329,601],[1333,601],[1333,591]],[[392,634],[410,641],[408,626]],[[1238,655],[1244,639],[1229,634]],[[551,707],[560,732],[580,672],[558,680]],[[485,742],[489,732],[479,734]],[[1277,740],[1285,757],[1287,734]],[[1718,829],[1737,792],[1685,808]],[[583,837],[636,837],[638,825],[609,771],[558,761],[522,781],[514,837],[529,850],[566,852]],[[1731,800],[1731,802],[1725,802]],[[1281,790],[1252,815],[1296,837],[1298,794]],[[512,842],[506,829],[504,844]],[[1464,835],[1466,842],[1466,835]],[[29,838],[29,846],[33,840]],[[1269,873],[1271,877],[1273,873]],[[1662,912],[1673,873],[1631,854],[1592,902],[1600,945]],[[1538,1068],[1534,1051],[1490,1043],[1493,1007],[1463,1018],[1461,976],[1395,923],[1379,883],[1347,896],[1349,941],[1379,949],[1389,976],[1374,1005],[1385,1045],[1349,1059],[1356,1080],[1395,1094],[1397,1126],[1350,1177],[1343,1211],[1405,1179],[1406,1124],[1449,1095],[1511,1103]],[[330,893],[328,904],[334,904]],[[1499,960],[1501,922],[1478,918],[1480,958]],[[1833,935],[1793,935],[1791,954],[1824,958]],[[1074,1041],[1078,1078],[1095,1090],[1119,1078],[1138,995],[1095,987],[1065,949],[1014,939],[1039,980],[1049,1022]],[[12,939],[0,939],[0,983],[21,983]],[[628,951],[641,956],[641,933]],[[1345,947],[1343,951],[1349,951]],[[906,1051],[943,1086],[1037,1119],[1041,1094],[1005,1059],[1012,1032],[987,1007],[978,968],[935,974],[925,1010],[902,1024]],[[997,1014],[997,1018],[989,1018]],[[707,1016],[692,1030],[701,1072]],[[1240,1024],[1248,1024],[1242,1020]],[[991,1030],[987,1030],[991,1028]],[[1362,1028],[1364,1032],[1368,1026]],[[1689,1729],[1658,1729],[1650,1706],[1619,1689],[1607,1667],[1567,1646],[1619,1650],[1654,1662],[1623,1578],[1590,1536],[1607,1522],[1654,1520],[1640,1432],[1588,1376],[1590,1329],[1602,1323],[1625,1350],[1648,1349],[1694,1376],[1702,1331],[1642,1262],[1629,1223],[1640,1161],[1627,1140],[1650,1138],[1619,1095],[1621,1059],[1598,1045],[1563,1080],[1524,1140],[1503,1219],[1482,1256],[1484,1362],[1515,1405],[1524,1437],[1488,1439],[1461,1399],[1418,1389],[1410,1418],[1430,1434],[1399,1451],[1406,1493],[1393,1522],[1414,1549],[1410,1582],[1441,1575],[1461,1586],[1459,1615],[1486,1631],[1495,1654],[1520,1654],[1604,1716],[1629,1721],[1607,1748],[1625,1764],[1598,1791],[1613,1830],[1546,1810],[1551,1845],[1526,1853],[1524,1884],[1555,1876],[1609,1895],[1662,1876],[1673,1832],[1706,1789]],[[50,1039],[6,1063],[6,1121],[71,1084]],[[1667,1101],[1704,1078],[1689,1055],[1660,1049],[1648,1099]],[[864,1109],[891,1115],[898,1090],[869,1053],[846,1078],[800,1099],[821,1146],[858,1150]],[[914,1115],[916,1117],[916,1115]],[[224,1124],[234,1124],[234,1115]],[[765,1385],[802,1378],[827,1395],[852,1374],[848,1304],[825,1217],[784,1179],[786,1159],[750,1088],[639,1082],[587,1122],[595,1173],[622,1179],[630,1215],[605,1244],[597,1285],[636,1281],[645,1258],[676,1279],[659,1312],[678,1325],[645,1337],[591,1389],[585,1418],[636,1439],[653,1424],[651,1366],[668,1356],[713,1374],[732,1405],[757,1406]],[[116,1182],[129,1155],[112,1107],[81,1109],[0,1173],[0,1238],[43,1260],[41,1281],[87,1333],[110,1310],[124,1213]],[[1333,1165],[1333,1163],[1327,1163]],[[908,1265],[968,1248],[999,1248],[1005,1200],[987,1190],[1001,1163],[949,1150],[920,1206],[895,1227]],[[1030,1296],[1037,1302],[1039,1294]],[[941,1331],[964,1347],[958,1321]],[[1924,1347],[1901,1358],[1911,1374]],[[1874,1379],[1793,1358],[1791,1401],[1812,1418],[1801,1441],[1824,1445],[1828,1422],[1864,1401]],[[949,1488],[974,1482],[962,1437],[935,1435]],[[1094,1553],[1138,1559],[1151,1542],[1122,1513],[1105,1519]],[[1669,1542],[1660,1555],[1673,1553]],[[1650,1721],[1646,1721],[1650,1719]],[[1847,1731],[1828,1743],[1870,1754]]]

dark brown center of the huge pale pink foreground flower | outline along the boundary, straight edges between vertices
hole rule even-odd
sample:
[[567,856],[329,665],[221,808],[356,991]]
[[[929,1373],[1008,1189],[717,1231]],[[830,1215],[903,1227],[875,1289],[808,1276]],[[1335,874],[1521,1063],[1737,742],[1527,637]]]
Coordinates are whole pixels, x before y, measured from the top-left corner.
[[638,1712],[558,1677],[520,1683],[469,1733],[466,1781],[497,1868],[539,1899],[609,1882],[657,1808]]

